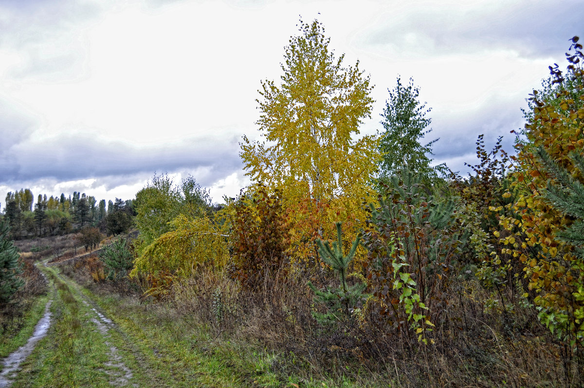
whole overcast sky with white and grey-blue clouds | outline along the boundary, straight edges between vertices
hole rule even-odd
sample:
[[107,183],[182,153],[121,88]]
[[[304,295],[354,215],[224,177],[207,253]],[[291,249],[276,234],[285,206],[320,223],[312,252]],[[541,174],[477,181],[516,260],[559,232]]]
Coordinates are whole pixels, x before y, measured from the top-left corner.
[[555,4],[0,0],[0,206],[20,188],[126,200],[155,172],[235,196],[238,142],[258,138],[260,81],[279,81],[299,15],[371,75],[362,133],[380,128],[396,77],[413,77],[435,161],[465,172],[478,134],[512,151],[525,98],[548,65],[565,68],[584,1]]

